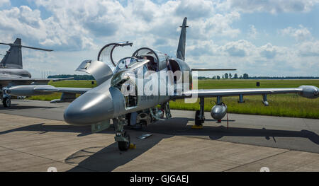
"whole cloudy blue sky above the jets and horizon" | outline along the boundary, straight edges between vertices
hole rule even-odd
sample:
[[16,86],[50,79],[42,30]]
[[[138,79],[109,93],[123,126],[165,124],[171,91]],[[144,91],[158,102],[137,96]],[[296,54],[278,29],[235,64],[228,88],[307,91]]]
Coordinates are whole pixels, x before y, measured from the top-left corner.
[[[55,50],[23,50],[24,67],[34,77],[42,71],[74,74],[109,42],[134,43],[117,52],[118,59],[139,47],[174,56],[184,17],[191,67],[236,68],[237,74],[251,76],[319,76],[318,0],[0,0],[0,40],[21,37],[23,45]],[[0,54],[6,50],[0,46]]]

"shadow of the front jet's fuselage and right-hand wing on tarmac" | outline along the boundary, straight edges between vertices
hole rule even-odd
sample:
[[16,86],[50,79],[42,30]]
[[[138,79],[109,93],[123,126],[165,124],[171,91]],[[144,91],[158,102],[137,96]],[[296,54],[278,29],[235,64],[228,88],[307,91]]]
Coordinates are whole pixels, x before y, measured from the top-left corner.
[[[314,132],[307,130],[302,130],[301,132],[284,131],[284,130],[268,130],[268,129],[245,129],[245,128],[234,128],[231,127],[227,129],[223,126],[210,127],[206,126],[204,129],[194,130],[191,126],[187,125],[190,120],[186,118],[174,118],[172,120],[157,122],[155,124],[150,124],[147,128],[143,128],[142,132],[148,133],[160,133],[167,134],[164,138],[169,138],[175,135],[183,136],[209,136],[210,139],[217,140],[221,139],[223,136],[264,136],[265,140],[269,140],[272,137],[301,137],[310,139],[315,144],[319,144],[319,136]],[[103,132],[102,132],[103,133]],[[121,165],[129,163],[133,159],[145,153],[153,146],[159,143],[162,138],[159,136],[152,136],[152,138],[147,140],[145,143],[143,140],[138,140],[134,137],[134,141],[138,144],[138,149],[129,150],[127,152],[119,152],[117,144],[111,144],[110,146],[103,147],[92,147],[88,149],[82,149],[77,153],[69,156],[65,162],[66,163],[76,163],[77,166],[69,171],[82,171],[83,168],[87,170],[97,170],[97,171],[112,171]],[[132,137],[131,137],[132,139]]]

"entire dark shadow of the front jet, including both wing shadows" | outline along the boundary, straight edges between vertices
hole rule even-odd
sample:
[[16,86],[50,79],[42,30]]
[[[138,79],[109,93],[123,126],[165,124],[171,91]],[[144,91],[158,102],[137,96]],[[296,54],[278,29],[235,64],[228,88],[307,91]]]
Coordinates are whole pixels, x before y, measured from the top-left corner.
[[[192,120],[187,118],[174,118],[172,120],[150,124],[149,126],[138,130],[139,132],[131,132],[131,141],[135,144],[138,144],[138,149],[120,152],[118,151],[117,143],[113,143],[106,147],[90,147],[77,151],[66,158],[65,162],[75,165],[75,167],[69,171],[112,171],[121,165],[129,163],[149,149],[152,149],[152,147],[158,144],[162,139],[170,138],[175,135],[209,136],[209,138],[213,140],[221,139],[223,136],[262,136],[265,137],[265,140],[269,140],[270,137],[297,137],[309,139],[314,144],[319,145],[318,134],[308,130],[301,130],[300,132],[297,132],[273,129],[247,129],[238,127],[230,127],[230,129],[227,129],[227,127],[223,126],[205,126],[203,129],[191,129],[191,126],[187,125],[190,121]],[[0,132],[0,135],[16,131],[35,131],[39,132],[39,134],[45,134],[46,132],[74,132],[80,133],[78,136],[82,137],[91,134],[90,129],[90,127],[74,127],[69,125],[34,124],[27,127]],[[140,140],[137,138],[137,135],[139,135],[141,132],[164,135],[154,135],[150,137],[152,139]],[[114,134],[114,131],[112,128],[110,128],[100,133]]]

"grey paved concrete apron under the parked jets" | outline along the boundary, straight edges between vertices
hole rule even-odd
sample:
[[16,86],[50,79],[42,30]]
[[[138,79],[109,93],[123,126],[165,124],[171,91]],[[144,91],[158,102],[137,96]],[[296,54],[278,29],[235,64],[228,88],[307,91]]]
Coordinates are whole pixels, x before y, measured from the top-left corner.
[[[63,122],[67,103],[13,100],[0,108],[0,171],[319,171],[319,120],[230,114],[230,128],[206,113],[173,110],[172,120],[128,130],[138,148],[120,153],[113,129]],[[153,134],[140,140],[142,134]]]

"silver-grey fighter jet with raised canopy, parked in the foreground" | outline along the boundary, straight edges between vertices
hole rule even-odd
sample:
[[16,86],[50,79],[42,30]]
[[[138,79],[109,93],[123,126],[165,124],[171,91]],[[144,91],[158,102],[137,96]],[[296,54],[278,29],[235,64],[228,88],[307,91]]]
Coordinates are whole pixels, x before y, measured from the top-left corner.
[[[216,105],[211,116],[216,120],[225,117],[228,108],[223,103],[225,96],[239,96],[243,103],[244,95],[262,95],[262,103],[269,105],[268,94],[298,93],[306,98],[318,98],[318,88],[301,86],[299,88],[240,88],[196,90],[192,73],[194,71],[219,71],[234,69],[191,69],[185,62],[186,21],[181,26],[181,37],[176,57],[147,47],[140,48],[131,57],[114,62],[116,47],[132,46],[133,43],[111,43],[101,49],[98,60],[82,62],[77,71],[92,74],[99,86],[96,88],[56,88],[53,86],[17,86],[6,93],[21,95],[43,91],[62,92],[60,100],[52,103],[73,100],[64,113],[65,122],[73,125],[91,125],[92,132],[99,132],[111,126],[116,131],[115,140],[121,151],[130,146],[130,135],[125,125],[151,124],[172,117],[169,101],[199,98],[200,110],[196,112],[195,124],[202,126],[204,117],[204,98],[216,97]],[[75,94],[82,94],[75,98]],[[196,99],[197,100],[197,99]]]

